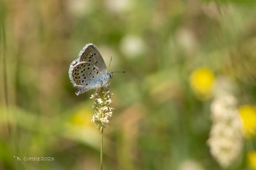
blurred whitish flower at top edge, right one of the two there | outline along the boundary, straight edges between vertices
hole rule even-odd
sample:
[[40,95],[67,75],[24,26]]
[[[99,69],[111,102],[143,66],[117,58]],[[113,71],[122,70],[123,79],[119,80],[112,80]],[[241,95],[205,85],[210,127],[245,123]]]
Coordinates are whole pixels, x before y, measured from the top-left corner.
[[105,0],[106,7],[110,12],[122,13],[131,8],[131,0]]

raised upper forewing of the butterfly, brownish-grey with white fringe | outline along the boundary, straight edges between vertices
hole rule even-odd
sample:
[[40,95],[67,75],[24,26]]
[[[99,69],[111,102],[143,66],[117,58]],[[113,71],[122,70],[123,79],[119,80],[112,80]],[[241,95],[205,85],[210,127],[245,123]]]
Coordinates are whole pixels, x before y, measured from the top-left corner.
[[99,72],[106,72],[106,65],[104,60],[95,45],[89,43],[84,46],[83,50],[79,53],[79,61],[85,61],[91,65],[97,66]]

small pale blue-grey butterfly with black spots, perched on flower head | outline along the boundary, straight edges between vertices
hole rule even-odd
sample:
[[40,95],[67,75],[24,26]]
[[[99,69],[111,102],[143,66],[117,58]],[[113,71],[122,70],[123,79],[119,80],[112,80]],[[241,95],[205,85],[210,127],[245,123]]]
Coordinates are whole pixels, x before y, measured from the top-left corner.
[[106,86],[113,72],[107,71],[104,59],[97,47],[88,43],[79,52],[78,58],[72,61],[68,76],[73,86],[79,88],[76,95],[80,95],[90,89]]

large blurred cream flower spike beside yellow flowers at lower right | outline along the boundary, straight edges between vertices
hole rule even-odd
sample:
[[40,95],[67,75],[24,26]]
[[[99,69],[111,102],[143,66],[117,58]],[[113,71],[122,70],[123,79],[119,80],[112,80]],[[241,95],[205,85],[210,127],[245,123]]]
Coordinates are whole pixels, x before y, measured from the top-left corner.
[[217,95],[211,105],[212,127],[207,141],[211,155],[222,167],[228,167],[239,157],[243,147],[241,120],[237,100],[230,93]]

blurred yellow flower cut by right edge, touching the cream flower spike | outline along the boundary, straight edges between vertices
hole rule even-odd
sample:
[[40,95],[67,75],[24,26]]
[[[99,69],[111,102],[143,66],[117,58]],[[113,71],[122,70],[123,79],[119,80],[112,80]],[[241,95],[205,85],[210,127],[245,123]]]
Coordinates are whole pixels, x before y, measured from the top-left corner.
[[243,122],[243,134],[250,138],[256,132],[256,108],[252,105],[242,105],[239,107],[239,113]]

